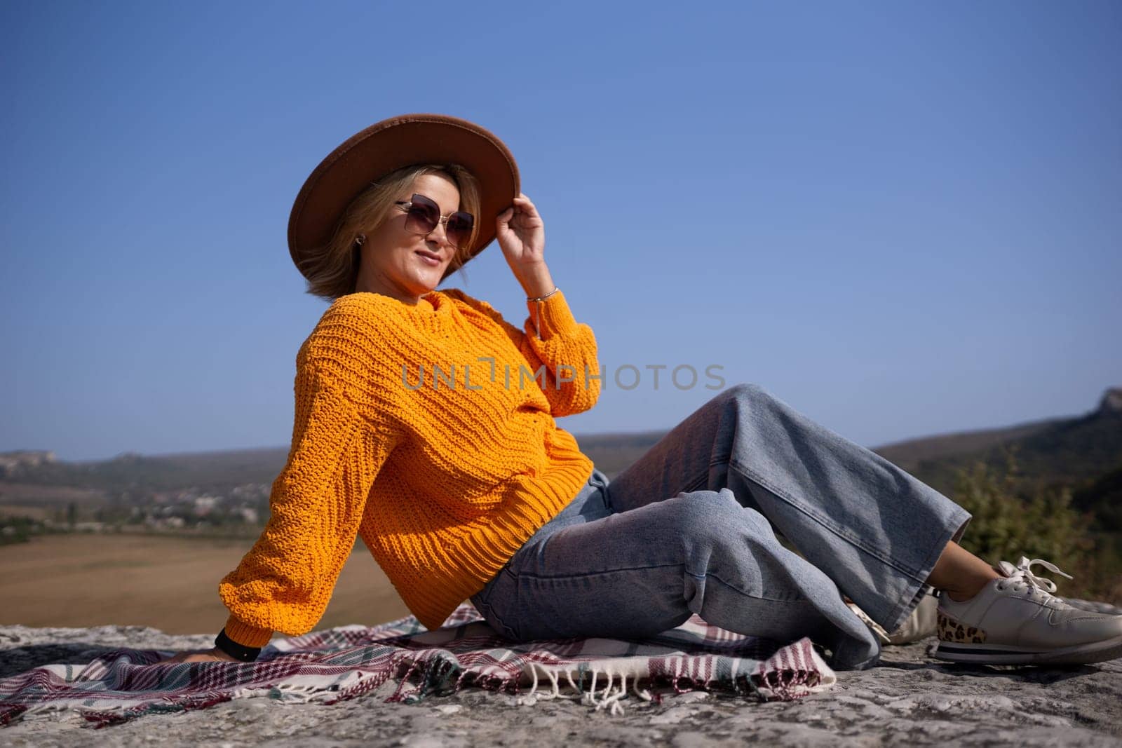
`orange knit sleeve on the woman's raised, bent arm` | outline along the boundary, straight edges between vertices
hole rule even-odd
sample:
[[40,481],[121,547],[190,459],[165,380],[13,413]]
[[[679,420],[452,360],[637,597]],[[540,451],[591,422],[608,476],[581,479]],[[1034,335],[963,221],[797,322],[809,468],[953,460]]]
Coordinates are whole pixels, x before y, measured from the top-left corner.
[[[530,364],[531,375],[549,400],[551,415],[569,416],[596,405],[603,379],[596,358],[596,336],[591,327],[573,318],[561,290],[541,302],[527,301],[528,316],[522,330],[504,320],[487,302],[459,289],[443,293],[460,298],[502,325]],[[540,371],[543,376],[537,376]]]

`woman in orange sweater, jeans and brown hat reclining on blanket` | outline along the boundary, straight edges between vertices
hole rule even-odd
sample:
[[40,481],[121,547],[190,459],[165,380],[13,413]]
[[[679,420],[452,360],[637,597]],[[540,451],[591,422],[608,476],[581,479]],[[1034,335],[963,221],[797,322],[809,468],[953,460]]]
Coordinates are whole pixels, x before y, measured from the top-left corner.
[[[496,237],[522,329],[435,290]],[[296,357],[268,525],[219,587],[226,627],[173,661],[249,662],[274,631],[314,628],[356,535],[429,628],[466,598],[518,640],[643,637],[698,613],[810,636],[855,669],[880,644],[842,592],[892,631],[935,588],[940,658],[1122,656],[1122,617],[1065,606],[1030,570],[1055,566],[990,566],[957,545],[962,507],[760,387],[719,393],[609,484],[554,422],[595,405],[596,340],[487,130],[435,114],[367,128],[309,177],[288,239],[332,304]]]

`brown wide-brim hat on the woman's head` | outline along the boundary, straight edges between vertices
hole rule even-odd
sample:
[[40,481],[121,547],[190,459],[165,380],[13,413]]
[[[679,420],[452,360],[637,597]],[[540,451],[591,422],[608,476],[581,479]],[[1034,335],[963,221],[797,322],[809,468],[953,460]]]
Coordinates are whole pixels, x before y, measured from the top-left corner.
[[[331,240],[343,211],[371,182],[413,164],[459,164],[479,182],[480,215],[467,262],[495,239],[495,219],[518,196],[518,165],[490,131],[447,114],[402,114],[356,132],[312,170],[288,216],[296,268]],[[462,267],[451,264],[441,280]],[[302,270],[303,271],[303,270]]]

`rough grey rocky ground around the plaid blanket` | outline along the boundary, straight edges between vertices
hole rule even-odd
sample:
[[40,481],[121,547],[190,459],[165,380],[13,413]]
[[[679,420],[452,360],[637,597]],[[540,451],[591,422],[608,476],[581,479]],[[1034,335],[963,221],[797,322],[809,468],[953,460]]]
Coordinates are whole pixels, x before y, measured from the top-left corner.
[[[211,636],[156,629],[0,627],[0,676],[52,662],[88,662],[100,648],[206,648]],[[962,666],[928,656],[935,639],[885,647],[882,664],[839,672],[833,690],[794,702],[669,693],[631,696],[623,715],[573,701],[517,703],[465,689],[417,704],[384,703],[380,690],[324,707],[240,699],[200,711],[91,729],[75,714],[0,728],[4,746],[780,746],[910,744],[1122,746],[1122,659],[1070,668]]]

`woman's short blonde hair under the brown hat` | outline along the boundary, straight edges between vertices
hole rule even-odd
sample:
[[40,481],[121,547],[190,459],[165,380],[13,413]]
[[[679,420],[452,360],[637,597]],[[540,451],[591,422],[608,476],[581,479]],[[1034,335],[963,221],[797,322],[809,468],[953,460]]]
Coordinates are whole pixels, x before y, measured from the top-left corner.
[[389,218],[397,195],[412,187],[417,177],[425,174],[440,174],[451,179],[460,191],[460,210],[476,216],[471,238],[457,248],[449,266],[462,268],[468,259],[468,251],[479,236],[479,183],[459,164],[414,164],[373,182],[339,216],[331,239],[307,251],[300,264],[301,273],[307,278],[306,293],[328,302],[353,294],[361,260],[360,247],[355,239],[360,233],[374,233]]

